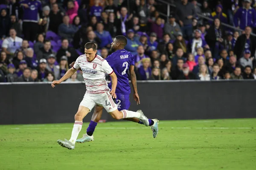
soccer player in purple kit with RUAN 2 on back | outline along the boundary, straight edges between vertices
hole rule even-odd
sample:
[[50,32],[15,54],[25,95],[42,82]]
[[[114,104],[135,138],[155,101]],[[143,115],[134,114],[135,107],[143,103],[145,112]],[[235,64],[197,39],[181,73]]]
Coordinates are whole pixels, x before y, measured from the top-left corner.
[[[134,89],[134,100],[137,102],[137,105],[140,104],[140,97],[137,92],[137,81],[136,75],[134,73],[134,56],[131,52],[126,51],[124,49],[127,44],[127,39],[125,36],[119,35],[116,36],[111,43],[111,50],[114,52],[109,55],[106,60],[108,61],[111,68],[113,68],[114,73],[117,77],[117,85],[116,85],[116,101],[118,105],[118,110],[121,111],[123,109],[129,109],[131,103],[129,101],[129,94],[131,93],[131,88],[129,85],[129,79],[127,72],[129,70],[131,75],[131,84]],[[73,64],[73,63],[72,63]],[[72,65],[71,65],[72,66]],[[109,84],[109,88],[111,89],[111,83]],[[94,109],[94,113],[92,119],[90,121],[89,127],[87,128],[87,133],[83,135],[81,139],[77,139],[76,142],[90,142],[93,141],[93,132],[96,128],[97,122],[99,122],[102,116],[102,106],[96,105]],[[137,122],[143,125],[137,118],[128,118],[126,120],[130,120],[133,122]],[[148,119],[149,126],[153,131],[153,137],[157,137],[158,133],[158,120],[157,119]]]

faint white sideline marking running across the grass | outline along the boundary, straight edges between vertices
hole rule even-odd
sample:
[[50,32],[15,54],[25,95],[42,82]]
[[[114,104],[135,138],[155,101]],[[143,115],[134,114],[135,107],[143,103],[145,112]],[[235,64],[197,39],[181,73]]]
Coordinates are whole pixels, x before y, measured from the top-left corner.
[[[147,129],[148,127],[96,127],[97,129]],[[159,127],[159,128],[172,128],[172,129],[253,129],[254,127]],[[28,130],[40,130],[40,129],[72,129],[72,127],[15,127],[10,128],[13,130],[28,129]]]

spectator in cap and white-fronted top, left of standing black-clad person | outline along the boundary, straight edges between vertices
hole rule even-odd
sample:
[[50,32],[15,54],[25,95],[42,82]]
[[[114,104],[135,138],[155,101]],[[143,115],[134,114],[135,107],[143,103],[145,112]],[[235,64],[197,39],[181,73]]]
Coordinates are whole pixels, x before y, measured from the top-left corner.
[[206,48],[209,49],[209,45],[207,45],[207,42],[201,38],[201,31],[199,29],[196,29],[194,31],[194,38],[190,40],[190,47],[193,55],[197,55],[197,48]]

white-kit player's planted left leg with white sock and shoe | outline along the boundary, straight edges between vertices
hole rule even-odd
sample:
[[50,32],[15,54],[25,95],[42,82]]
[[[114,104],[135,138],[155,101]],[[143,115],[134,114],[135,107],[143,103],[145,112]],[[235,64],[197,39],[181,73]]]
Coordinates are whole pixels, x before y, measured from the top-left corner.
[[83,119],[84,117],[90,112],[89,108],[86,108],[84,106],[79,106],[78,111],[75,115],[75,123],[73,126],[73,130],[71,133],[71,137],[70,140],[65,139],[64,141],[62,140],[58,140],[58,144],[60,144],[62,147],[66,147],[68,149],[74,149],[75,148],[75,143],[76,143],[76,139],[79,135],[79,132],[82,129],[82,125],[83,125]]

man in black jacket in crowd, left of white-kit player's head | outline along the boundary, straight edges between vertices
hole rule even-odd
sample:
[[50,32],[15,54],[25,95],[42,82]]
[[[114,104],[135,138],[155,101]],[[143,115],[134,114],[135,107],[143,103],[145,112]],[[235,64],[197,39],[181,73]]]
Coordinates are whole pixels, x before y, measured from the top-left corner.
[[63,38],[61,40],[61,48],[58,50],[56,54],[58,62],[61,61],[62,56],[68,57],[68,63],[72,63],[73,61],[76,61],[77,57],[79,57],[79,54],[77,54],[76,50],[73,47],[69,46],[69,42],[66,38]]

